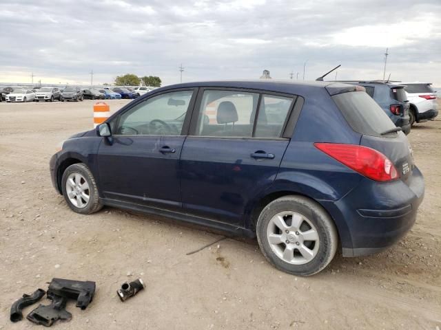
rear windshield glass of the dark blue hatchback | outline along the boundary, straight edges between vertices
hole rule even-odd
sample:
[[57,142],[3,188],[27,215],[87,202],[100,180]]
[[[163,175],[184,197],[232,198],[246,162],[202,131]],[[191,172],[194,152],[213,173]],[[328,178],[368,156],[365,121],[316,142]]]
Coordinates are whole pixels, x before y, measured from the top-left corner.
[[357,133],[380,136],[395,127],[383,109],[363,91],[337,94],[332,99]]

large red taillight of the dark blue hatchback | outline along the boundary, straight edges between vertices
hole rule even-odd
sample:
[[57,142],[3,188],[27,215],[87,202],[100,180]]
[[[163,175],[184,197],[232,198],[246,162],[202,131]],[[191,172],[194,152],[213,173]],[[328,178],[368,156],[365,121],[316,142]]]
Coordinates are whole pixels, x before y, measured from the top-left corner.
[[367,146],[338,143],[314,143],[314,146],[369,179],[398,179],[398,172],[393,163],[379,151]]

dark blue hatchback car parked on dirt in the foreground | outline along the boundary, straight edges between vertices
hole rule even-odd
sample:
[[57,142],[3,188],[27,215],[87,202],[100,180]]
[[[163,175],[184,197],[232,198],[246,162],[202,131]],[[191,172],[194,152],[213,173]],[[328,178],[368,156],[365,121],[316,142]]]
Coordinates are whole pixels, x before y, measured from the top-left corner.
[[[75,212],[113,206],[256,237],[291,274],[378,252],[424,195],[407,137],[360,86],[226,81],[155,89],[50,160]],[[340,245],[339,245],[340,243]]]

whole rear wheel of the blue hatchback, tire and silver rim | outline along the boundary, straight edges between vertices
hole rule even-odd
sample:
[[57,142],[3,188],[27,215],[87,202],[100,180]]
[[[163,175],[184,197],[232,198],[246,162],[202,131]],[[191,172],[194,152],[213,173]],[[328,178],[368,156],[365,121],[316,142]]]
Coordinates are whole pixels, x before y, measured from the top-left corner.
[[256,234],[265,258],[298,276],[320,272],[337,251],[334,221],[320,205],[301,196],[280,197],[263,208]]

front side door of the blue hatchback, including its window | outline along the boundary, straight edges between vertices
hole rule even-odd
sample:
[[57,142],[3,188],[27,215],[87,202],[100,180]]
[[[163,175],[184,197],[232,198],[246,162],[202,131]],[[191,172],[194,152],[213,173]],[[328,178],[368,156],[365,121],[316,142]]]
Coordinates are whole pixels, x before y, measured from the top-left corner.
[[181,209],[179,157],[195,98],[194,89],[163,91],[111,120],[98,151],[105,198]]

